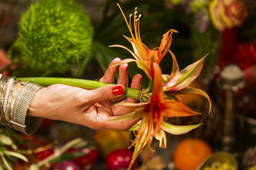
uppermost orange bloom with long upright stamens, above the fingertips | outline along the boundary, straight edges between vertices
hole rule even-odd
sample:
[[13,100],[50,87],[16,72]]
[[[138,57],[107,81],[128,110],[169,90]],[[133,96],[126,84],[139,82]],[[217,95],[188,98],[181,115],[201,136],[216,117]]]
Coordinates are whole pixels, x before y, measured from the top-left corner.
[[134,32],[132,32],[132,25],[131,25],[131,17],[132,14],[129,16],[129,22],[125,18],[124,12],[122,11],[122,8],[120,7],[119,4],[117,4],[118,7],[120,8],[122,15],[124,16],[125,22],[127,24],[127,27],[131,33],[131,38],[124,36],[131,44],[133,48],[130,50],[129,48],[122,46],[122,45],[111,45],[109,47],[121,47],[125,48],[127,51],[129,51],[134,59],[125,59],[122,60],[122,62],[119,62],[115,66],[119,66],[124,63],[128,62],[136,62],[138,67],[143,69],[143,71],[147,74],[148,78],[152,80],[152,63],[156,62],[159,64],[161,59],[163,59],[164,55],[168,52],[168,49],[171,46],[172,43],[172,34],[173,32],[177,32],[174,29],[170,29],[167,31],[165,34],[163,34],[163,39],[161,40],[161,44],[158,48],[158,50],[150,50],[146,45],[144,45],[141,41],[141,36],[140,36],[140,18],[141,14],[137,16],[137,8],[134,9],[134,15],[133,15],[133,24],[134,24]]

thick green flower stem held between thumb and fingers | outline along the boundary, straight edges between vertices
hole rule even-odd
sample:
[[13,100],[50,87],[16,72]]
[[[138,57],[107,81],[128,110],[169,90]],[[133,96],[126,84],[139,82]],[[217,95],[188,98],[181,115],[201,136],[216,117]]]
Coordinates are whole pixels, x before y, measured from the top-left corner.
[[[26,77],[26,78],[19,78],[21,81],[33,81],[34,83],[38,83],[44,87],[47,87],[52,84],[61,83],[64,85],[70,85],[74,87],[81,87],[84,89],[98,89],[100,87],[104,87],[106,85],[111,85],[110,83],[102,83],[100,81],[93,81],[93,80],[83,80],[77,78],[51,78],[51,77]],[[143,102],[148,101],[148,97],[143,95],[141,97],[141,90],[131,89],[129,87],[125,87],[125,94],[126,97],[132,97],[137,100],[142,100]]]

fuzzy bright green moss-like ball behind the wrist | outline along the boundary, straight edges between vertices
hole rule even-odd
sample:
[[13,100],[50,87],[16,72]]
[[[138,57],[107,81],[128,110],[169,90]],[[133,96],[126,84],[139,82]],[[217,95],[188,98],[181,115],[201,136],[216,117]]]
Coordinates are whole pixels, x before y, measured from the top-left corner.
[[92,36],[90,18],[81,5],[44,0],[31,4],[22,15],[10,50],[19,48],[17,56],[33,69],[63,73],[90,53]]

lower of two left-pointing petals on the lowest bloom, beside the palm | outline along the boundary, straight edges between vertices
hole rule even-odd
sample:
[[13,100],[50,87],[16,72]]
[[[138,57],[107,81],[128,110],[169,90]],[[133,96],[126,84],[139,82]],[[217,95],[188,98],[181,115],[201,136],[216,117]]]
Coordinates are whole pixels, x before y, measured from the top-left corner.
[[144,113],[143,113],[144,108],[140,108],[136,111],[132,111],[131,113],[119,116],[119,117],[111,117],[108,119],[108,121],[125,121],[125,120],[133,120],[136,118],[140,118],[143,117]]

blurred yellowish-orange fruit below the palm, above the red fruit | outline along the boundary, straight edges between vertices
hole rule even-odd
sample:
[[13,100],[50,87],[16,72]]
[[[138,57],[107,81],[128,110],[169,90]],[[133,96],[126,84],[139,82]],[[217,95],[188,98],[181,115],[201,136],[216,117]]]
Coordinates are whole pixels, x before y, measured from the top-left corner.
[[108,129],[99,130],[94,135],[95,143],[104,157],[114,150],[128,148],[131,145],[131,139],[132,136],[128,132]]

